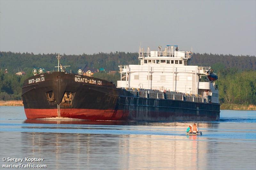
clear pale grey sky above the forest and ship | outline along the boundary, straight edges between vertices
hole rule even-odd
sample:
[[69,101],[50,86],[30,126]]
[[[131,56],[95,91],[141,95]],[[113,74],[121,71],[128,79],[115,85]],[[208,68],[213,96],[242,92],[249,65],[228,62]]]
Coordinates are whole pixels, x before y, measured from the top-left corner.
[[256,56],[256,1],[4,1],[0,51],[93,54],[179,45]]

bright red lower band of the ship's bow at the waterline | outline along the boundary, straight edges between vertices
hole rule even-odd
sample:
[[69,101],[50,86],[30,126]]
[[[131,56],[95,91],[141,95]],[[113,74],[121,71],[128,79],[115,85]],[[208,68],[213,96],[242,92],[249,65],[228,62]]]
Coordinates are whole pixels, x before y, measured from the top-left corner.
[[[58,117],[57,109],[25,109],[27,119]],[[122,121],[128,119],[129,113],[123,110],[97,110],[97,109],[60,109],[60,117],[85,120],[112,120]]]

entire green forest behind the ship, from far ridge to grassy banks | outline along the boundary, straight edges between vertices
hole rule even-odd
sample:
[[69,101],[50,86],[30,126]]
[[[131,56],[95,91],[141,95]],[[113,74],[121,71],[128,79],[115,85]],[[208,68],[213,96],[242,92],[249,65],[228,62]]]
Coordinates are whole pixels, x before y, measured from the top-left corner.
[[[21,100],[24,80],[32,76],[34,68],[56,71],[58,54],[37,54],[0,52],[0,100]],[[62,55],[62,65],[71,65],[68,72],[76,73],[79,68],[104,68],[94,77],[116,84],[119,73],[109,75],[108,71],[118,70],[118,65],[138,64],[138,53],[111,52],[93,55]],[[193,53],[190,65],[211,66],[219,79],[220,103],[256,105],[256,57],[243,55],[219,55]],[[4,73],[7,69],[8,73]],[[15,72],[25,71],[26,75],[16,76]]]

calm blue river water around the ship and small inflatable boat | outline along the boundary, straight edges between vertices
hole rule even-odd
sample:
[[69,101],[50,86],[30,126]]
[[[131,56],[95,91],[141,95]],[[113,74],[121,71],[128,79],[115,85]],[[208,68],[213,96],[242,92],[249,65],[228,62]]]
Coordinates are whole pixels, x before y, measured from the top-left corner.
[[196,122],[202,136],[186,136],[190,124],[27,120],[23,107],[0,107],[0,169],[256,169],[256,111],[221,110],[219,122]]

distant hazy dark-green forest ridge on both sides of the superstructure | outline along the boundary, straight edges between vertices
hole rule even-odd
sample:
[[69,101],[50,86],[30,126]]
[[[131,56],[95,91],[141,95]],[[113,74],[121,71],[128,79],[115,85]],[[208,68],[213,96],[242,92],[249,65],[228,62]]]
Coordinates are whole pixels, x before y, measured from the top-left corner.
[[[9,72],[22,71],[31,72],[33,68],[44,68],[47,71],[57,70],[57,54],[33,54],[33,53],[13,53],[0,52],[0,69],[7,69]],[[138,53],[111,52],[97,53],[93,55],[62,55],[60,59],[62,65],[71,65],[68,71],[74,73],[79,68],[94,67],[104,68],[107,72],[118,70],[118,65],[138,64]],[[212,66],[213,63],[223,63],[227,68],[236,67],[238,70],[256,70],[255,56],[234,56],[218,54],[194,53],[190,60],[190,65]],[[83,68],[82,68],[83,69]]]

